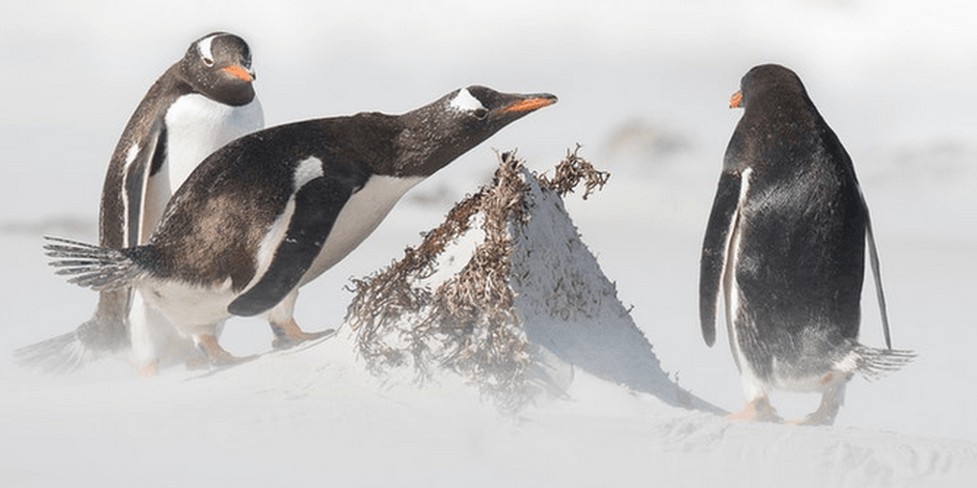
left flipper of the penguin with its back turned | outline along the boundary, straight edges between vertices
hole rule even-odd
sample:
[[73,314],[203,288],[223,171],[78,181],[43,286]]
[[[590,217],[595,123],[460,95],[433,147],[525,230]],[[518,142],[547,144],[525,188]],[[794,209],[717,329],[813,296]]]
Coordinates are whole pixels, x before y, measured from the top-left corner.
[[702,242],[699,269],[699,322],[702,338],[712,346],[715,343],[715,312],[719,305],[723,269],[728,254],[729,229],[739,204],[739,175],[724,171],[720,177],[712,213]]

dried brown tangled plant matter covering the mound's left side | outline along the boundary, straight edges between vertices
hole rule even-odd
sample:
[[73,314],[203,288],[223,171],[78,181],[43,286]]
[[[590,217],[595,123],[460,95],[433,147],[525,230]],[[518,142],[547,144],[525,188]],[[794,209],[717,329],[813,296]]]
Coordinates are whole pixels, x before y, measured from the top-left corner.
[[[583,182],[585,198],[604,185],[609,175],[580,157],[579,149],[568,151],[551,179],[525,170],[513,153],[500,154],[491,185],[455,205],[402,259],[354,280],[346,322],[371,371],[413,367],[426,380],[432,368],[443,368],[474,382],[504,410],[525,404],[533,357],[510,285],[513,230],[530,218],[526,178],[559,195]],[[445,249],[466,234],[481,240],[460,271],[429,283]]]

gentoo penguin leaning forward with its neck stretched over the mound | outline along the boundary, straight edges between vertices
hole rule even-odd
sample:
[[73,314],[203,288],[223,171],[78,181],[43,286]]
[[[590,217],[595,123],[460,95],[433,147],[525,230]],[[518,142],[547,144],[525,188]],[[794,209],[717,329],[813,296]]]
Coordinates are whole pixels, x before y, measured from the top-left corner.
[[556,100],[472,86],[403,115],[265,129],[207,157],[147,244],[112,249],[49,237],[46,248],[71,282],[138,290],[212,363],[232,362],[215,336],[227,318],[267,313],[299,330],[297,288],[353,251],[408,189]]

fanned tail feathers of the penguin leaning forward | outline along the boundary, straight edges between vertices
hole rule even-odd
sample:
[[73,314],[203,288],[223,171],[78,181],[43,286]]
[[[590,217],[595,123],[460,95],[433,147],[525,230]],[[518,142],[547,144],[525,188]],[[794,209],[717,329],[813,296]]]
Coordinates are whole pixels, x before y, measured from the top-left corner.
[[69,275],[68,283],[94,291],[127,288],[143,270],[123,249],[107,249],[77,241],[45,236],[45,254],[56,274]]

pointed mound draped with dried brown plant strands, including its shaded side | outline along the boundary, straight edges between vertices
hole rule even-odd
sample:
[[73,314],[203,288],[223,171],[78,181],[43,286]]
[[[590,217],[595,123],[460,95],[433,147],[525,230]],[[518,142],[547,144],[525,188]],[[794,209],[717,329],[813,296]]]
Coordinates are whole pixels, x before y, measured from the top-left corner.
[[[579,147],[578,147],[579,150]],[[499,155],[491,185],[458,203],[398,261],[363,280],[346,323],[377,374],[456,372],[503,410],[562,395],[579,368],[668,404],[716,411],[661,369],[562,196],[609,174],[568,151],[553,179]]]

